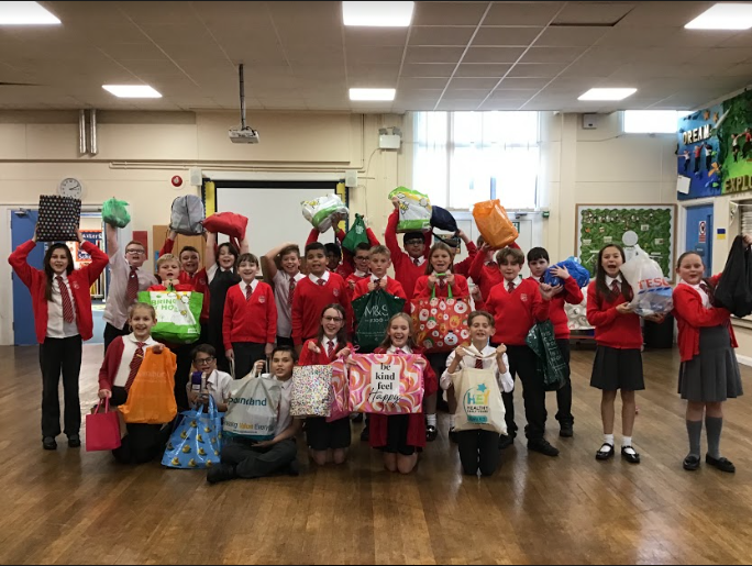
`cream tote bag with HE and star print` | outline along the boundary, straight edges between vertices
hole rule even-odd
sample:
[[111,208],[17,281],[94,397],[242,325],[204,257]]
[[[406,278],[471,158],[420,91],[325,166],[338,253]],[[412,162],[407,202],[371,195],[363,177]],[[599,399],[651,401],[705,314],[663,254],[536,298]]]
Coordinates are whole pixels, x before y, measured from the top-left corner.
[[465,367],[452,374],[457,410],[455,431],[484,430],[507,434],[506,411],[493,369]]

